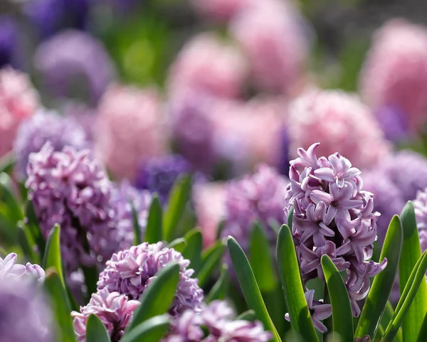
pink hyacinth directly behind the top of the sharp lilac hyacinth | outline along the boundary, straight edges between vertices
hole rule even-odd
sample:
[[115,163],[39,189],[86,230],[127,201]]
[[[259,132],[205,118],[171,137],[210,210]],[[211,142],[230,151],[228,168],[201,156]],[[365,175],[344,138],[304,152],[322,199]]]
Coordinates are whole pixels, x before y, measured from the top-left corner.
[[294,100],[289,107],[288,132],[290,151],[320,141],[318,154],[337,151],[361,169],[375,166],[391,149],[369,108],[356,96],[339,90],[307,90]]

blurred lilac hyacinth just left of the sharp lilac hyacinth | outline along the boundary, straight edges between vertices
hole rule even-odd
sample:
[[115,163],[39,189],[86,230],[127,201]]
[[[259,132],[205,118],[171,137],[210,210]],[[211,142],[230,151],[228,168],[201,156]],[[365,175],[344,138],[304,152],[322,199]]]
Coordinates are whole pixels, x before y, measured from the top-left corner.
[[271,222],[285,222],[283,206],[288,178],[270,166],[260,165],[255,173],[226,184],[226,218],[221,236],[233,236],[243,250],[248,249],[255,220],[265,228],[272,248],[276,235]]

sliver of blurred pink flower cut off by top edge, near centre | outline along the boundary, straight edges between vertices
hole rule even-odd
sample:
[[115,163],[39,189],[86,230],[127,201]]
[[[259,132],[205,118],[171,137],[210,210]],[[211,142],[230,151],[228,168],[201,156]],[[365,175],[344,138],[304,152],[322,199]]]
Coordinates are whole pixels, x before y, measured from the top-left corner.
[[194,9],[201,16],[226,22],[238,15],[254,0],[191,0]]

